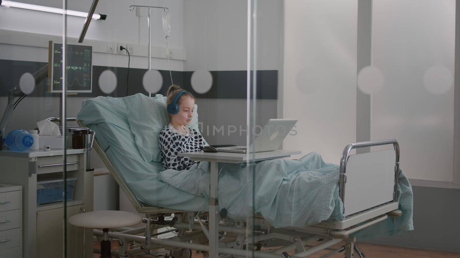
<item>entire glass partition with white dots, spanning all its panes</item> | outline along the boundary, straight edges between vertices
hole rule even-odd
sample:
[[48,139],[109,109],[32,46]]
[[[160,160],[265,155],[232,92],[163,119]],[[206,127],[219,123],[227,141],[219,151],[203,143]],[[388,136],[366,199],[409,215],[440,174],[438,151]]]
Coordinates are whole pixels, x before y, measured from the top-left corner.
[[458,179],[454,0],[1,6],[0,202],[22,206],[0,212],[23,216],[0,257],[351,257],[305,228],[392,207],[395,172],[354,185],[344,153]]

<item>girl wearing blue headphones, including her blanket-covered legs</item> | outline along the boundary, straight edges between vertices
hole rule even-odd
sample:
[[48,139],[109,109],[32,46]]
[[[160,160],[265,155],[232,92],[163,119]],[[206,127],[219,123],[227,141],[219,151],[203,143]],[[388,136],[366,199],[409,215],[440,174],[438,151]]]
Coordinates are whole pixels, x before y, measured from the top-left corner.
[[[170,123],[161,130],[158,139],[161,162],[165,169],[160,173],[160,179],[182,191],[191,192],[196,196],[207,196],[208,194],[204,192],[209,191],[209,188],[205,187],[207,190],[202,192],[200,185],[195,184],[209,180],[207,162],[200,163],[192,161],[188,157],[178,156],[178,153],[182,152],[201,151],[203,146],[207,145],[206,140],[198,130],[187,127],[195,112],[195,98],[190,92],[172,85],[167,90],[166,103]],[[236,198],[235,196],[250,196],[250,193],[246,191],[252,189],[252,185],[247,185],[252,181],[252,178],[245,178],[249,174],[239,173],[246,171],[245,166],[246,164],[229,163],[219,165],[219,181],[226,182],[219,187],[219,202],[223,207],[228,208],[229,214],[234,216],[237,216],[236,214],[241,216],[250,213],[250,210],[252,211],[252,209],[247,209],[247,205],[241,206],[238,205],[239,202],[231,201]],[[253,167],[256,173],[254,180],[257,183],[254,195],[261,196],[263,199],[257,201],[261,206],[256,208],[256,211],[265,214],[264,216],[270,218],[271,221],[275,221],[275,217],[279,216],[276,210],[278,210],[277,206],[280,206],[279,209],[288,214],[281,217],[291,218],[283,223],[293,225],[297,223],[296,220],[299,220],[300,224],[305,225],[305,214],[308,212],[299,208],[303,206],[293,205],[291,201],[286,202],[286,200],[293,200],[294,192],[297,196],[306,196],[305,191],[308,191],[312,200],[317,200],[318,196],[322,196],[323,199],[329,198],[325,202],[329,205],[320,205],[319,209],[324,210],[323,212],[318,213],[318,209],[314,209],[316,213],[322,214],[322,216],[307,216],[314,219],[314,221],[309,221],[310,223],[317,223],[321,221],[320,219],[328,219],[336,206],[333,193],[338,188],[338,166],[324,163],[321,156],[316,152],[297,160],[278,158],[251,163],[249,166]],[[203,185],[209,184],[203,183]],[[277,191],[274,191],[275,189]],[[228,198],[230,199],[227,200]],[[294,207],[296,207],[295,214],[293,214]],[[311,208],[312,205],[306,207]],[[297,213],[300,210],[302,211]],[[296,219],[297,216],[300,216],[301,219]],[[282,224],[276,223],[276,225]]]

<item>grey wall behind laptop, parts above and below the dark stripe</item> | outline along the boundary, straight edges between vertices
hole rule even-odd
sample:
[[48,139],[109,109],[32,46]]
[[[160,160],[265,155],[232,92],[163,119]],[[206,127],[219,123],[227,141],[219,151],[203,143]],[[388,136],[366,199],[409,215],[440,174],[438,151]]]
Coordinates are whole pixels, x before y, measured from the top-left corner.
[[[258,4],[258,43],[256,70],[282,73],[280,38],[282,37],[282,1],[264,0]],[[184,1],[184,46],[187,60],[184,71],[238,71],[247,69],[247,1]],[[278,76],[280,76],[280,73]],[[243,87],[246,87],[246,82]],[[264,87],[264,85],[261,85]],[[246,97],[242,99],[198,99],[199,120],[210,126],[204,136],[210,144],[246,145],[245,132],[214,135],[218,129],[234,125],[246,127]],[[277,117],[277,100],[257,100],[256,124],[264,125]]]

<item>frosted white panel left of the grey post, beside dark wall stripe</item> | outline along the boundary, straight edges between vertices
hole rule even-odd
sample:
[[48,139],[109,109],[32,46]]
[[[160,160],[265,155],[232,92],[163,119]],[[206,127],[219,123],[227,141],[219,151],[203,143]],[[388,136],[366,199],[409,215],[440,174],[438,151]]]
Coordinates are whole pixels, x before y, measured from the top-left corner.
[[357,1],[289,0],[284,10],[284,149],[339,163],[356,140]]

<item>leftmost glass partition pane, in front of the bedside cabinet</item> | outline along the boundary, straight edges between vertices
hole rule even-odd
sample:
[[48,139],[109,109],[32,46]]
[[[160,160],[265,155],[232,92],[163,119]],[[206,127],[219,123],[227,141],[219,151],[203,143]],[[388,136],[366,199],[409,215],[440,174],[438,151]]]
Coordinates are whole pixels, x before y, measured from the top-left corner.
[[[83,230],[63,218],[87,205],[85,150],[70,151],[65,165],[63,148],[72,148],[61,123],[66,95],[62,87],[52,88],[53,80],[61,86],[65,77],[65,6],[52,1],[42,8],[44,3],[27,0],[0,5],[0,256],[63,257],[67,228],[78,238],[78,247],[67,253],[78,250],[75,257],[81,257]],[[85,20],[70,19],[79,29]]]

